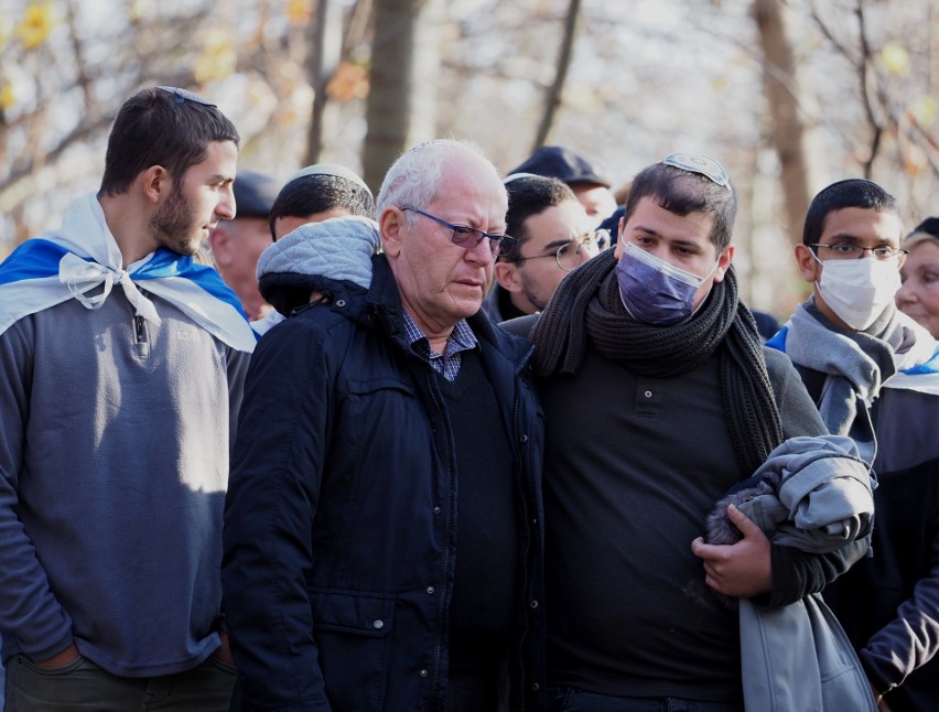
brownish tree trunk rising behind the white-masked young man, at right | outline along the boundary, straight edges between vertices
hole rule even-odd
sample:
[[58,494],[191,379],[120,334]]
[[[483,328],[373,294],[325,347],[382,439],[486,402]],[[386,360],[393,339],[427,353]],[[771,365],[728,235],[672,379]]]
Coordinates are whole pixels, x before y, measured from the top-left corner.
[[780,11],[781,0],[754,0],[753,17],[763,48],[763,88],[773,120],[773,142],[781,166],[786,228],[794,245],[802,241],[809,208],[805,129],[799,116],[792,50]]

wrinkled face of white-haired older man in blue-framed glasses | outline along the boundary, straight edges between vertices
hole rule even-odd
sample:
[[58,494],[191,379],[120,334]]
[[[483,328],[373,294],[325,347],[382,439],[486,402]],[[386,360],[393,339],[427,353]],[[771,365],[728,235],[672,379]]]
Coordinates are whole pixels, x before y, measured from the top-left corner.
[[[508,198],[492,165],[461,153],[444,162],[436,197],[414,207],[449,223],[503,234]],[[447,331],[479,311],[493,279],[488,239],[464,249],[451,241],[450,228],[400,206],[385,208],[379,225],[401,302],[425,335]]]

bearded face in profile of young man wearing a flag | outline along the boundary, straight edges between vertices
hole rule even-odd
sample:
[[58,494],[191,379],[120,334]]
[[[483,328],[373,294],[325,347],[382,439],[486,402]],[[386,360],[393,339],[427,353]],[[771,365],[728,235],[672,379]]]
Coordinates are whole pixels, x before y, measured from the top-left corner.
[[[202,163],[172,181],[150,219],[156,242],[181,255],[195,255],[218,220],[235,217],[231,184],[238,149],[231,141],[209,144]],[[172,177],[170,179],[172,180]]]

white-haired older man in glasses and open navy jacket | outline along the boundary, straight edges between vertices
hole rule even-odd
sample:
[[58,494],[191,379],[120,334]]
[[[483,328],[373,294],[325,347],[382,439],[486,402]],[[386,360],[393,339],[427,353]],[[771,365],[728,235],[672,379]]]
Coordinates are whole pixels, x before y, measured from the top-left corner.
[[543,418],[481,309],[506,207],[471,144],[411,149],[370,285],[311,277],[328,299],[260,341],[224,538],[242,709],[543,709]]

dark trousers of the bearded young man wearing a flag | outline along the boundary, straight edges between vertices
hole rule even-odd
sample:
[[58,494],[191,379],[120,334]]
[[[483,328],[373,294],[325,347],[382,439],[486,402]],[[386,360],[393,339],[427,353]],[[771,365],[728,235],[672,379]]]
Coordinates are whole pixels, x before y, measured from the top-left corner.
[[185,672],[122,678],[85,657],[50,669],[14,655],[7,660],[6,712],[227,712],[237,678],[212,657]]

